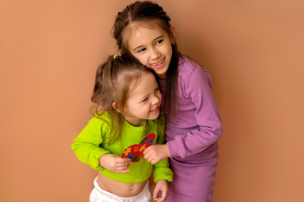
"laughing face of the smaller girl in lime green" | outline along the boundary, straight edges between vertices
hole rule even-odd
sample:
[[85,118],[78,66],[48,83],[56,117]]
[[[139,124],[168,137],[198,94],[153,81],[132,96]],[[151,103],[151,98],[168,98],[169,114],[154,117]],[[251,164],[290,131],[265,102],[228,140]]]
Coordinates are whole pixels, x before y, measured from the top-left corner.
[[162,95],[154,75],[151,72],[142,74],[135,87],[132,87],[125,105],[125,120],[132,125],[142,126],[146,119],[158,118]]

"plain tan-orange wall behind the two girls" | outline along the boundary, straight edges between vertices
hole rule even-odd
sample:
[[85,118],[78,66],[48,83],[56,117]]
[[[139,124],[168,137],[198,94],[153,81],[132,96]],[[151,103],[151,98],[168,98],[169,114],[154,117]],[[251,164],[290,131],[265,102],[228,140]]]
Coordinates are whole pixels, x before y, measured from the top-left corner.
[[[0,201],[87,202],[70,145],[133,0],[0,0]],[[214,202],[304,201],[304,3],[155,0],[209,69],[223,137]]]

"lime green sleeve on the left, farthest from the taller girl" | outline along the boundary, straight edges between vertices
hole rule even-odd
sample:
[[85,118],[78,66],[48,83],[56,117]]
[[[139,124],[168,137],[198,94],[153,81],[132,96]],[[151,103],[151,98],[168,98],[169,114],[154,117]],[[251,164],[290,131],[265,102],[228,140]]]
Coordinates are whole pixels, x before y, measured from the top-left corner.
[[80,161],[97,171],[102,171],[104,168],[99,165],[99,159],[102,155],[109,154],[109,151],[99,147],[102,142],[102,121],[96,119],[98,118],[94,117],[88,122],[77,138],[74,139],[71,148]]

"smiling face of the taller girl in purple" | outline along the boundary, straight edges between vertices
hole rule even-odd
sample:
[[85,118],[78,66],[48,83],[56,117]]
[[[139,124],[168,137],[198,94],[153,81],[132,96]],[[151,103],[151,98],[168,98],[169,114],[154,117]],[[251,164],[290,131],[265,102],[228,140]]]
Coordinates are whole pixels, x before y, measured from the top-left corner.
[[169,35],[162,28],[137,26],[128,40],[128,50],[142,64],[153,69],[159,78],[166,78],[172,47]]

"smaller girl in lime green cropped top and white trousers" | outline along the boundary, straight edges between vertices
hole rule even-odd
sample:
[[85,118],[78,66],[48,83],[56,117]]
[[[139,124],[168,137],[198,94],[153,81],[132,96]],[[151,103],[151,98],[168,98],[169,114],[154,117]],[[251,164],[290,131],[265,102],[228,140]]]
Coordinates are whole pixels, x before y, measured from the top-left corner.
[[164,144],[161,100],[154,73],[137,59],[115,55],[99,66],[91,97],[94,117],[71,146],[99,171],[90,202],[150,202],[151,175],[153,200],[167,198],[173,179],[168,159],[152,165],[142,157],[148,146]]

